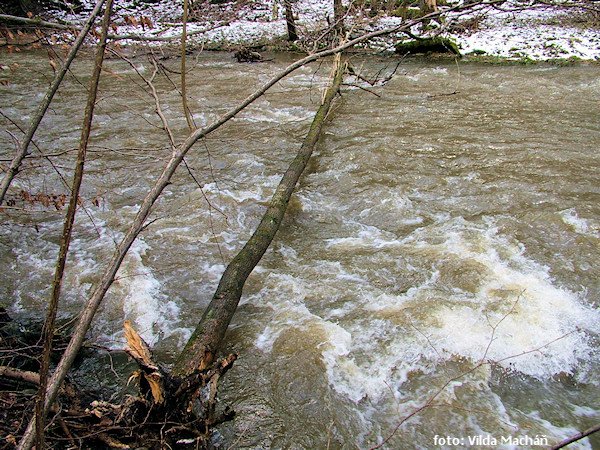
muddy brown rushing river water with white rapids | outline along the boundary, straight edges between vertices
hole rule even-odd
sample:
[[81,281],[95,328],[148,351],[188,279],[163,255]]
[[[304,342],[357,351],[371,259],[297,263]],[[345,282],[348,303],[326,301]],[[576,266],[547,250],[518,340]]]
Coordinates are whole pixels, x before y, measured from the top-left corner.
[[[188,75],[197,125],[287,58],[238,65],[201,54]],[[15,62],[1,74],[9,85],[0,107],[25,124],[51,73],[44,55],[2,54],[2,64]],[[152,75],[146,59],[133,63]],[[355,61],[370,73],[394,64]],[[107,67],[65,317],[80,310],[170,155],[136,72],[122,61]],[[298,70],[195,146],[187,164],[199,184],[178,171],[103,304],[94,340],[122,347],[130,319],[173,360],[299,148],[328,70]],[[77,146],[89,63],[74,72],[37,135],[47,153]],[[346,87],[228,333],[226,351],[241,358],[223,380],[223,400],[238,410],[220,430],[226,441],[366,448],[428,401],[386,448],[439,448],[441,437],[458,447],[483,437],[531,447],[524,439],[552,444],[599,422],[599,75],[586,66],[407,62],[372,88],[379,97]],[[156,86],[180,141],[177,92],[164,76]],[[0,144],[10,157],[8,132]],[[55,168],[28,160],[11,198],[20,189],[66,192],[56,171],[70,179],[73,158],[53,157]],[[18,198],[15,207],[28,212],[2,215],[3,301],[13,314],[41,314],[61,216]]]

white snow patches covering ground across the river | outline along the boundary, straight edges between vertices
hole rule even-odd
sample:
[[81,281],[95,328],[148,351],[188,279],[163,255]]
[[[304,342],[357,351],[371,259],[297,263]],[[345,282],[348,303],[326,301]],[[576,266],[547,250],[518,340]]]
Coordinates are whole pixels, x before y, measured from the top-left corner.
[[[83,0],[91,7],[93,0]],[[286,35],[281,0],[240,2],[212,5],[202,11],[201,21],[190,22],[190,41],[209,48],[235,48],[241,45],[265,44]],[[316,33],[328,26],[333,16],[332,1],[298,0],[294,3],[299,34]],[[175,37],[181,34],[183,0],[143,4],[136,0],[115,0],[115,22],[118,34],[137,34],[148,37]],[[138,5],[138,6],[135,6]],[[140,7],[139,5],[144,5]],[[514,5],[513,5],[514,6]],[[484,54],[503,58],[528,58],[548,60],[556,58],[580,58],[600,61],[600,28],[583,25],[566,25],[561,18],[576,14],[574,9],[556,8],[493,8],[482,6],[470,15],[450,15],[440,25],[443,36],[450,37],[463,54]],[[125,16],[138,22],[141,17],[152,21],[147,25],[129,24]],[[64,15],[64,20],[81,20],[81,17]],[[224,23],[227,22],[226,25]],[[347,22],[357,30],[389,28],[401,23],[401,19],[383,16],[378,19],[350,17]],[[209,29],[210,31],[203,32]],[[415,31],[418,31],[415,30]],[[393,50],[394,42],[405,39],[404,35],[378,39],[369,44],[373,50]],[[122,44],[134,41],[123,41]],[[138,42],[139,43],[139,42]],[[160,41],[164,45],[165,41]]]

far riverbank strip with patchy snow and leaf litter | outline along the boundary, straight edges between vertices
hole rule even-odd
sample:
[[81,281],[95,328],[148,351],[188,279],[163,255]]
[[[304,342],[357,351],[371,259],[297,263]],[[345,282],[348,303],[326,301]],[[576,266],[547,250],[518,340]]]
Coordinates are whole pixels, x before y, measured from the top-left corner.
[[[82,0],[77,13],[45,13],[43,18],[61,24],[86,20],[93,0]],[[143,3],[116,0],[113,32],[122,47],[143,45],[178,46],[182,33],[181,2]],[[600,13],[579,8],[536,5],[522,7],[508,2],[501,8],[475,6],[468,13],[449,13],[440,23],[432,21],[422,37],[440,35],[456,43],[461,55],[483,61],[600,61]],[[441,7],[444,8],[444,7]],[[310,51],[333,18],[332,2],[298,0],[294,14],[300,40],[287,42],[287,29],[280,2],[229,2],[211,4],[190,15],[187,42],[190,48],[236,50],[242,46],[269,50]],[[346,25],[352,36],[391,28],[402,23],[398,10],[362,9],[348,13]],[[18,36],[15,36],[18,39]],[[389,53],[405,34],[373,39],[363,48]]]

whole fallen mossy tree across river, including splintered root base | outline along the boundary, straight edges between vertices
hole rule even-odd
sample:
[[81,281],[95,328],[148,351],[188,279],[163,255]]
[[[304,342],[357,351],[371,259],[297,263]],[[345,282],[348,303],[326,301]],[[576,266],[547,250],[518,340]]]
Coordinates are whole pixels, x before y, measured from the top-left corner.
[[126,350],[140,368],[132,378],[137,381],[142,395],[129,397],[123,405],[115,405],[103,413],[104,424],[101,422],[94,432],[104,435],[109,431],[106,423],[110,424],[111,446],[130,448],[127,446],[160,442],[160,448],[164,448],[165,445],[195,441],[196,448],[210,448],[207,440],[211,428],[233,417],[230,409],[216,414],[216,394],[219,378],[232,366],[236,355],[218,361],[215,361],[215,355],[246,279],[277,233],[296,183],[339,92],[344,70],[340,55],[336,55],[332,82],[300,150],[283,175],[256,231],[225,269],[212,301],[171,373],[154,362],[148,345],[131,324],[125,322]]

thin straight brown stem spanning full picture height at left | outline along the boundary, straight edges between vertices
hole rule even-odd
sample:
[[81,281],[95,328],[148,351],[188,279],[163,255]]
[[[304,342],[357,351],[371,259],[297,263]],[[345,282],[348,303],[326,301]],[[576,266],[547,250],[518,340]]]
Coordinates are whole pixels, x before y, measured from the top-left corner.
[[[44,347],[42,350],[42,363],[40,368],[40,385],[38,390],[38,398],[35,405],[35,423],[36,425],[36,448],[44,448],[44,422],[45,411],[44,405],[46,402],[46,388],[48,384],[48,371],[50,369],[50,355],[52,353],[52,338],[54,336],[54,326],[56,322],[56,314],[58,312],[58,303],[60,299],[60,291],[62,285],[65,264],[69,245],[71,243],[71,235],[73,224],[75,223],[75,213],[77,212],[77,203],[79,200],[79,190],[83,179],[83,169],[87,153],[88,142],[92,129],[92,120],[94,118],[94,106],[96,105],[96,97],[98,93],[98,84],[100,82],[100,74],[102,72],[102,63],[104,62],[104,52],[106,49],[106,36],[108,34],[108,26],[110,24],[110,16],[112,12],[113,0],[107,0],[106,9],[104,11],[104,20],[102,22],[102,33],[100,42],[96,50],[96,58],[94,61],[94,71],[90,92],[88,95],[87,105],[83,118],[83,127],[81,130],[81,139],[79,141],[79,150],[77,152],[77,162],[75,165],[75,173],[73,175],[73,187],[71,190],[71,198],[69,207],[65,216],[63,225],[63,233],[60,242],[60,250],[54,272],[54,280],[52,282],[52,295],[43,330]],[[25,448],[25,447],[21,447]]]

